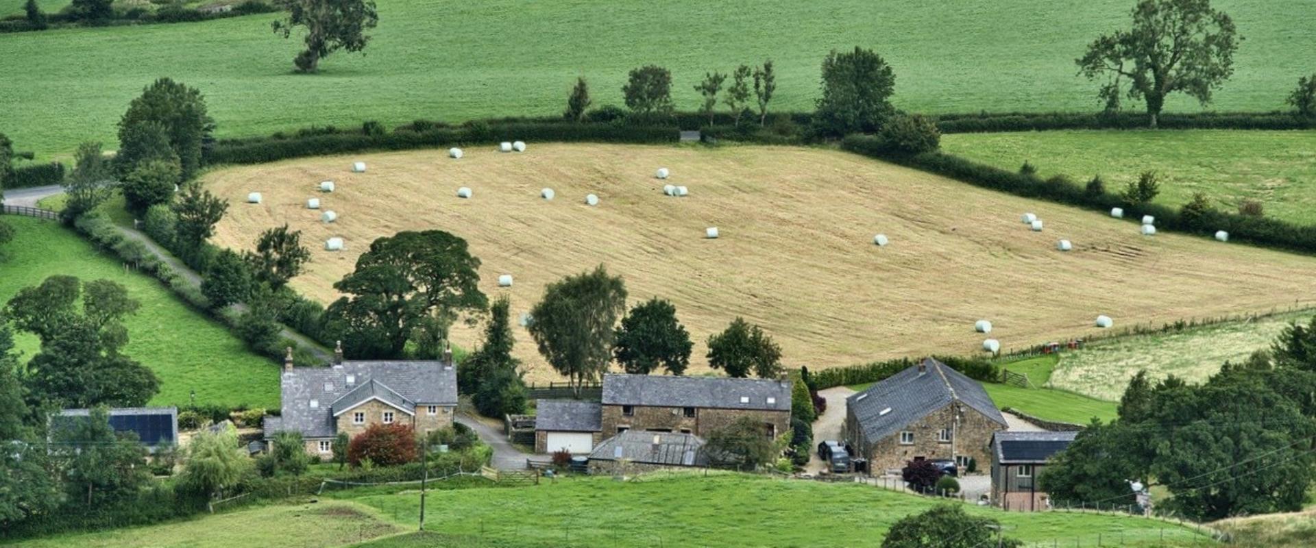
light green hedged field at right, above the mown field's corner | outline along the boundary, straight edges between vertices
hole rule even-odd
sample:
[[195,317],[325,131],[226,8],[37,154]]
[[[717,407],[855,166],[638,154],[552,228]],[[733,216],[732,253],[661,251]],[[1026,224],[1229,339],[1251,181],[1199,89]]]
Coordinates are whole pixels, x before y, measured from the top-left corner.
[[1162,177],[1157,202],[1178,206],[1202,192],[1233,212],[1252,198],[1267,216],[1316,225],[1316,131],[965,133],[944,135],[941,145],[1007,170],[1026,160],[1044,177],[1086,183],[1100,173],[1108,191],[1153,170]]

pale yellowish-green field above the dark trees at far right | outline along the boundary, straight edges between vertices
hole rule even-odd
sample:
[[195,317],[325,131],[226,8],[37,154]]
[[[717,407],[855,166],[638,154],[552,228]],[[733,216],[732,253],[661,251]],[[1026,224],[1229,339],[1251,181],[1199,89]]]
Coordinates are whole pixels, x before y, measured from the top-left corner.
[[1270,348],[1291,322],[1309,323],[1313,311],[1237,321],[1179,332],[1130,335],[1087,344],[1066,352],[1051,373],[1050,385],[1101,400],[1119,400],[1140,369],[1153,378],[1175,375],[1202,382],[1225,361],[1240,363],[1254,351]]

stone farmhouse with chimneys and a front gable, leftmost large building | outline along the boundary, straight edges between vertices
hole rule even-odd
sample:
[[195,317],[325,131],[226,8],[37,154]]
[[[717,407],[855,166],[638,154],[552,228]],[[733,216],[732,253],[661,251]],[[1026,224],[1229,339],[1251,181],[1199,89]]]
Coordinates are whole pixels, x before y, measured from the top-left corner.
[[282,417],[265,418],[266,440],[300,432],[311,455],[329,456],[338,432],[349,438],[371,424],[403,423],[418,434],[453,424],[457,371],[451,351],[441,361],[346,361],[293,367],[284,360],[279,382]]

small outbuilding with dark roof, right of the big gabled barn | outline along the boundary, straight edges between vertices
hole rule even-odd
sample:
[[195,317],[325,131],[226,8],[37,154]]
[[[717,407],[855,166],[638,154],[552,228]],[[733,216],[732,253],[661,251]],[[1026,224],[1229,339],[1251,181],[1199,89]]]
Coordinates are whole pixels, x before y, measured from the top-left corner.
[[1046,510],[1048,494],[1037,490],[1038,473],[1065,451],[1073,432],[996,432],[991,442],[991,499],[1005,510]]

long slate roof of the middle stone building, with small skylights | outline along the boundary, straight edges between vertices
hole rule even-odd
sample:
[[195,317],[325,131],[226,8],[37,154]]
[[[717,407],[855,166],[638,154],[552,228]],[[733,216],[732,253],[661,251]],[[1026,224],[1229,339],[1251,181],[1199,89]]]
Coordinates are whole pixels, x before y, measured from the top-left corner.
[[[742,398],[747,401],[742,402]],[[769,403],[769,398],[774,401]],[[604,375],[603,405],[791,410],[791,381]]]

